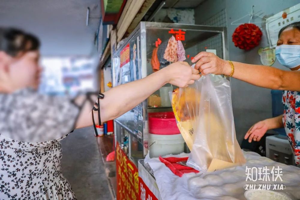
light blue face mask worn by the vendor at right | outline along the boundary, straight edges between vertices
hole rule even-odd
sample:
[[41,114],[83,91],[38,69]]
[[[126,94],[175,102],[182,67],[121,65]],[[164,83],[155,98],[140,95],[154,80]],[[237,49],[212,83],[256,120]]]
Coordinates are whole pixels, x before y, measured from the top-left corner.
[[300,65],[300,45],[282,44],[276,46],[276,58],[283,66],[288,68]]

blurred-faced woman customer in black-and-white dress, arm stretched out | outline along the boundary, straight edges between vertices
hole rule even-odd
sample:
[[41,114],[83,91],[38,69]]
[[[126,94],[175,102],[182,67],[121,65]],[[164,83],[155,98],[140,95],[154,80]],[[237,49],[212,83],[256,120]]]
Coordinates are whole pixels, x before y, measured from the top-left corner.
[[[38,49],[35,36],[0,27],[0,200],[76,199],[61,174],[60,140],[93,124],[98,95],[86,101],[38,94]],[[184,87],[199,78],[198,70],[177,62],[115,87],[99,100],[101,119],[128,112],[166,83]],[[98,113],[93,117],[101,123]]]

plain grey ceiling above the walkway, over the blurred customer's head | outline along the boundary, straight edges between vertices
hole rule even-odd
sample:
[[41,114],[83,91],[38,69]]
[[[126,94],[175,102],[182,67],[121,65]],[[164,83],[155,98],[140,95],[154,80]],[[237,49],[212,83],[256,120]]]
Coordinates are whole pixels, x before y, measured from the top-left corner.
[[[0,0],[0,7],[0,26],[36,34],[42,42],[43,55],[91,51],[99,26],[100,0]],[[87,7],[93,17],[88,26],[85,25]]]

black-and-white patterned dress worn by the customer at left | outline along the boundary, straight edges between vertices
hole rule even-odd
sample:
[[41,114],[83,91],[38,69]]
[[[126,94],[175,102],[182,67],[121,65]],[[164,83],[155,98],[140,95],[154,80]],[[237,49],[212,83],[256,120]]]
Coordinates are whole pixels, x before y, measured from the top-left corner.
[[0,200],[76,199],[61,174],[60,140],[78,114],[67,97],[0,93]]

